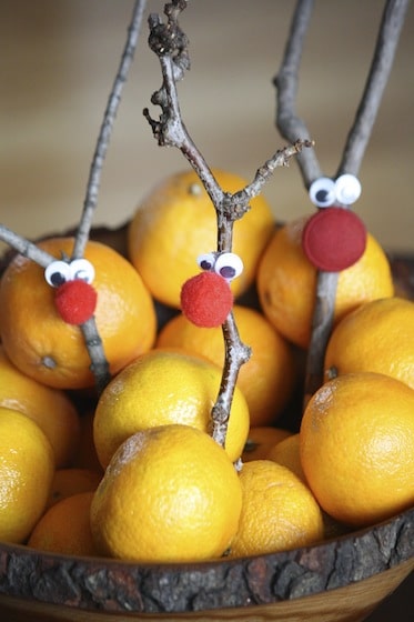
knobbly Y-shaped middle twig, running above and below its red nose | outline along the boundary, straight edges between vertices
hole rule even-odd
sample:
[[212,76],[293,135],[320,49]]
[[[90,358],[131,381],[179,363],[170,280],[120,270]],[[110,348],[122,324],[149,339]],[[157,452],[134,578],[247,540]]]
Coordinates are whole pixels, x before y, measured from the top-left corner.
[[[159,57],[163,78],[161,89],[152,96],[151,102],[161,107],[161,114],[159,120],[154,120],[147,108],[143,114],[159,144],[180,149],[196,172],[215,209],[218,251],[231,251],[234,221],[250,209],[250,201],[260,193],[273,171],[286,165],[292,156],[301,152],[303,147],[310,147],[311,142],[295,140],[293,146],[277,151],[258,170],[253,182],[239,192],[231,194],[222,190],[192,141],[180,112],[176,81],[183,78],[190,66],[188,40],[178,23],[179,14],[185,7],[185,0],[172,0],[165,4],[166,23],[162,22],[160,16],[150,16],[149,43]],[[241,341],[232,312],[222,329],[225,354],[219,395],[212,409],[212,437],[224,445],[238,374],[250,358],[250,348]]]

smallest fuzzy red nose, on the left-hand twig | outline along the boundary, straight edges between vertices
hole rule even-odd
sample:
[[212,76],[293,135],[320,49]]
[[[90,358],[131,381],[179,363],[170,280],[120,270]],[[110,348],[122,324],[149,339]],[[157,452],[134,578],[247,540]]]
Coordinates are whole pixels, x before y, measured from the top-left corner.
[[83,324],[95,310],[97,291],[87,283],[77,279],[67,281],[55,291],[54,303],[63,322],[68,324]]

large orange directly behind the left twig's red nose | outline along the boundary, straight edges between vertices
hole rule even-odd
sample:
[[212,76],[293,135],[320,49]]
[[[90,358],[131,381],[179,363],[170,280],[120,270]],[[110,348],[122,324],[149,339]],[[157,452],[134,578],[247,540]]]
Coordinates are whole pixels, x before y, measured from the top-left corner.
[[[40,242],[51,255],[71,257],[73,239]],[[89,242],[95,270],[95,321],[111,373],[149,350],[155,338],[153,302],[137,270],[110,247]],[[65,323],[54,304],[54,288],[44,270],[18,255],[0,283],[0,323],[4,350],[27,375],[50,387],[79,389],[94,383],[81,329]],[[30,310],[30,312],[28,312]]]

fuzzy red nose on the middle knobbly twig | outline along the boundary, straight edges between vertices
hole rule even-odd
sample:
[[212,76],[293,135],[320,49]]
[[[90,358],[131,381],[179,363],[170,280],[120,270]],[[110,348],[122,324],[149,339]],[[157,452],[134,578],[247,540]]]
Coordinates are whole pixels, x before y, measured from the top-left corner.
[[198,327],[220,327],[232,307],[229,283],[215,272],[201,272],[185,281],[181,289],[182,312]]

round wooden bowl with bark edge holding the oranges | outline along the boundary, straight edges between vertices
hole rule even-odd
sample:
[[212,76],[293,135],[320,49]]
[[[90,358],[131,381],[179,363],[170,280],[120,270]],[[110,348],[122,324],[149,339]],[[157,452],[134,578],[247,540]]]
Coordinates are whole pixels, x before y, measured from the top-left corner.
[[[92,238],[125,252],[125,227]],[[397,293],[414,299],[414,258],[390,257]],[[313,546],[208,563],[140,565],[0,543],[0,613],[10,622],[359,622],[413,570],[414,508]]]

